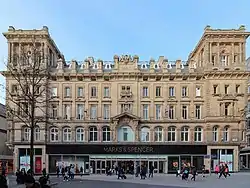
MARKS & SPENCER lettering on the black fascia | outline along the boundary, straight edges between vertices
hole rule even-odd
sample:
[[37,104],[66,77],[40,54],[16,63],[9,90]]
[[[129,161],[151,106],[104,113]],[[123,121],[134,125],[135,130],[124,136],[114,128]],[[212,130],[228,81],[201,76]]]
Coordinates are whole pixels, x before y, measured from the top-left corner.
[[154,148],[150,146],[106,146],[107,153],[153,153]]

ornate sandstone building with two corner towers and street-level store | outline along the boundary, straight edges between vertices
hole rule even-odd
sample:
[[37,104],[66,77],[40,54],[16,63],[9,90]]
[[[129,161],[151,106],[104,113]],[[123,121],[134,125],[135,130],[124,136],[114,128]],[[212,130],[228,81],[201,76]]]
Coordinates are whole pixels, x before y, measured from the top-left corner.
[[[67,63],[47,27],[10,27],[4,33],[9,57],[34,37],[50,57],[50,123],[35,129],[36,166],[52,173],[57,165],[76,164],[86,173],[104,173],[106,166],[143,163],[171,173],[184,162],[198,169],[227,162],[238,171],[246,144],[249,34],[244,26],[207,26],[185,62],[115,55],[112,61]],[[5,76],[7,87],[14,87]],[[29,140],[29,128],[9,120],[16,168],[29,155]]]

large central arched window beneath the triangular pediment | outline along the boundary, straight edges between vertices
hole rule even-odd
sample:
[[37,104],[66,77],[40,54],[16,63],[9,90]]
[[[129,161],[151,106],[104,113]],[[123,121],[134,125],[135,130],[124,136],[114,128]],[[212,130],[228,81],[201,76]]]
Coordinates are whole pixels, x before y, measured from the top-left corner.
[[135,134],[133,129],[129,126],[121,126],[118,129],[117,133],[118,142],[134,142],[135,141]]

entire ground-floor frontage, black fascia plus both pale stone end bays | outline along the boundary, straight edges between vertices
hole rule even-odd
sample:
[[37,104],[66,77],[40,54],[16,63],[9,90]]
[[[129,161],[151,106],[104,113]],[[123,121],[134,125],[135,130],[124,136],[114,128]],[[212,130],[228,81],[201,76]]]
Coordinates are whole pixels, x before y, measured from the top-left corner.
[[[238,146],[207,145],[143,145],[143,144],[50,144],[34,147],[34,171],[43,168],[55,173],[56,167],[73,165],[85,174],[103,174],[106,167],[123,165],[153,165],[156,173],[173,173],[183,163],[201,169],[214,169],[216,164],[229,164],[230,171],[238,171]],[[14,166],[29,169],[29,146],[16,146]]]

